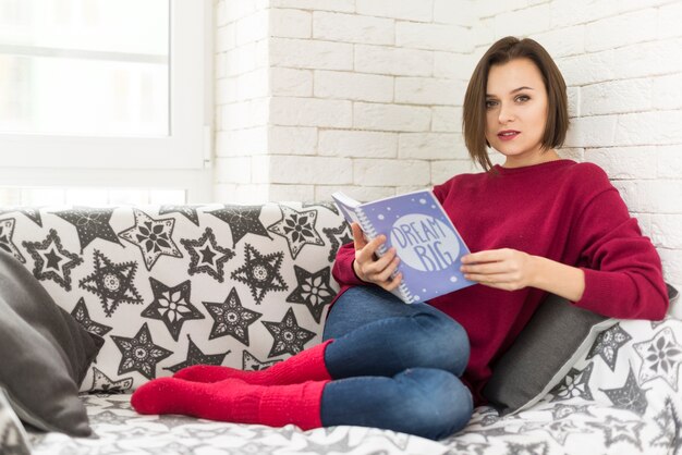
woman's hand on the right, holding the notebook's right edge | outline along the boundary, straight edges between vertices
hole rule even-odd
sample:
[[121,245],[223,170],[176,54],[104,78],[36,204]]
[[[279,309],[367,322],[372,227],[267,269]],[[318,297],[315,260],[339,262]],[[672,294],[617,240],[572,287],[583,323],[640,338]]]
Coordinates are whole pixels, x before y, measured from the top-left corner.
[[511,248],[488,249],[462,258],[464,278],[506,291],[535,286],[537,256]]

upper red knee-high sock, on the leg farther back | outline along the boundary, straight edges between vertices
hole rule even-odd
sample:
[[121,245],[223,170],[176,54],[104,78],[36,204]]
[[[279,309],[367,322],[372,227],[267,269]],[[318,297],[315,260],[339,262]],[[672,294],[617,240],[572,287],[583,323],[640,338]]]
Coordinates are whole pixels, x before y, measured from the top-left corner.
[[183,368],[173,378],[195,382],[218,382],[226,379],[241,379],[249,384],[284,385],[304,381],[331,379],[325,365],[325,349],[333,340],[302,351],[284,361],[260,371],[242,371],[235,368],[215,365],[195,365]]

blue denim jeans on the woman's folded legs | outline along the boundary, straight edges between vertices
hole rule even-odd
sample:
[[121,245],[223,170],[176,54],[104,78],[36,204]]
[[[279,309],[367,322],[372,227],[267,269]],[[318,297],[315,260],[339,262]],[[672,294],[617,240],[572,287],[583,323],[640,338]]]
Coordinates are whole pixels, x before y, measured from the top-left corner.
[[472,395],[458,379],[468,337],[428,304],[405,305],[379,286],[348,290],[325,324],[325,427],[354,425],[439,440],[468,422]]

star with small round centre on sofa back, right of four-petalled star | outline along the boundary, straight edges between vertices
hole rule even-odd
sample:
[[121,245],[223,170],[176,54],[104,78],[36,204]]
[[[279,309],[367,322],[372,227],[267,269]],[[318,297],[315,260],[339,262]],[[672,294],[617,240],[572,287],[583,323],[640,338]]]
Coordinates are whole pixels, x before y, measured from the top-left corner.
[[223,303],[203,302],[203,304],[214,318],[208,340],[232,335],[248,346],[248,327],[263,315],[244,308],[234,287]]

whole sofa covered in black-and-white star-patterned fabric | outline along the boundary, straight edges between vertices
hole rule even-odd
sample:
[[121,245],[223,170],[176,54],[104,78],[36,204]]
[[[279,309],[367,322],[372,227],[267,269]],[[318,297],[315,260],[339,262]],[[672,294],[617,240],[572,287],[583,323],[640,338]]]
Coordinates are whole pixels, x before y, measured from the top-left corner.
[[[339,290],[336,251],[352,239],[343,217],[330,202],[12,207],[0,209],[0,248],[103,342],[78,384],[93,434],[22,423],[0,394],[2,454],[668,454],[682,446],[682,321],[670,316],[593,324],[580,348],[565,347],[568,360],[534,399],[506,411],[479,406],[465,429],[440,441],[351,426],[302,431],[142,416],[130,396],[154,378],[196,364],[263,369],[320,343]],[[523,365],[533,376],[533,364]]]

